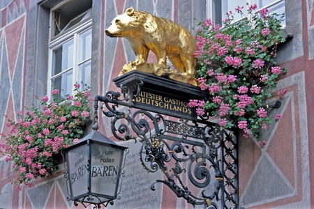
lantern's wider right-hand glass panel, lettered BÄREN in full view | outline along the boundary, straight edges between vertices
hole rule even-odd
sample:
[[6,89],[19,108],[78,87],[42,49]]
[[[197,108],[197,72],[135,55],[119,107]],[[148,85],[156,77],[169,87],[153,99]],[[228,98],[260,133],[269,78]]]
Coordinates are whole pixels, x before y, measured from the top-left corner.
[[115,197],[124,149],[91,144],[91,193]]

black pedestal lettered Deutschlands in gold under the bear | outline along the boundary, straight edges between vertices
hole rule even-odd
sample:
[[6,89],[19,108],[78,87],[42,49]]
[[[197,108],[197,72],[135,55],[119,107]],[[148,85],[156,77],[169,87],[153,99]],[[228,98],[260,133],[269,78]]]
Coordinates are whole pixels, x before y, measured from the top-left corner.
[[190,84],[133,70],[113,82],[124,92],[130,90],[131,107],[195,121],[189,100],[207,100],[208,92]]

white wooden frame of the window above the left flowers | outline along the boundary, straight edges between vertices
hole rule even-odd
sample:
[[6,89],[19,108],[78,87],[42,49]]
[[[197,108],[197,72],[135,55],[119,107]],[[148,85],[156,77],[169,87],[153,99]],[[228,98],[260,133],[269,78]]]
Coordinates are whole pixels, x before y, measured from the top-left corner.
[[[63,2],[61,2],[63,5]],[[54,8],[51,9],[50,12],[50,22],[52,23],[52,18],[53,18],[53,14],[52,12],[54,10],[56,10],[57,8],[60,7],[60,3],[57,6],[54,6]],[[84,61],[80,61],[80,63],[78,62],[80,57],[80,52],[78,51],[78,49],[80,49],[79,45],[80,45],[80,34],[84,33],[85,31],[91,29],[92,24],[92,19],[91,17],[88,17],[86,20],[82,20],[82,22],[79,22],[77,24],[75,24],[75,26],[70,27],[70,29],[66,29],[65,31],[63,31],[62,33],[59,33],[57,36],[54,36],[52,38],[52,33],[54,33],[54,31],[50,31],[50,42],[48,43],[48,74],[47,74],[47,95],[51,96],[51,92],[54,90],[52,89],[52,79],[54,77],[57,77],[58,75],[61,75],[67,71],[69,71],[70,69],[73,70],[73,74],[72,74],[72,82],[73,84],[75,84],[75,82],[78,81],[79,79],[79,65],[80,63],[84,63],[87,62],[89,60],[91,60],[91,57],[89,57],[88,59],[85,59]],[[52,27],[51,27],[52,28]],[[68,68],[66,70],[63,70],[62,72],[59,72],[57,75],[52,76],[52,66],[53,66],[53,51],[55,49],[57,49],[58,47],[61,47],[61,45],[63,45],[63,43],[67,42],[68,40],[73,38],[73,68]],[[72,88],[73,89],[73,88]],[[72,91],[72,94],[74,94],[75,92]]]

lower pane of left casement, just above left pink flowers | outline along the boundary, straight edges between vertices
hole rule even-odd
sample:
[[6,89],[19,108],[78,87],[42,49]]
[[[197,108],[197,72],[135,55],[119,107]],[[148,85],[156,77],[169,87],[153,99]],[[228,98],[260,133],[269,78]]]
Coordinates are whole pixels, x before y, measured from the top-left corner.
[[52,79],[52,89],[58,88],[59,100],[65,98],[64,95],[72,94],[73,80],[72,70],[62,73],[58,77]]

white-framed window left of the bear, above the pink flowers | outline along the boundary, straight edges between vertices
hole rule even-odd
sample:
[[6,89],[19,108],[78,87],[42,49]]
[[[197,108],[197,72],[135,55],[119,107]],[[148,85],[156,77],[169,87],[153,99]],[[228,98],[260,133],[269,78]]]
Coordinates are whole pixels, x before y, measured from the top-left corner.
[[[83,0],[81,0],[83,2]],[[48,92],[73,94],[73,84],[91,86],[91,1],[70,1],[52,8]],[[75,4],[73,4],[75,3]]]

